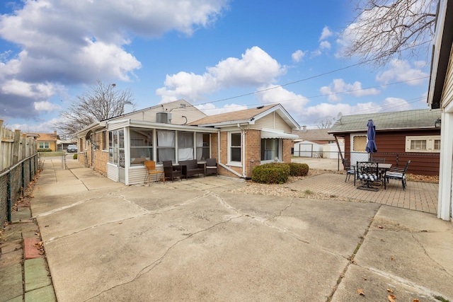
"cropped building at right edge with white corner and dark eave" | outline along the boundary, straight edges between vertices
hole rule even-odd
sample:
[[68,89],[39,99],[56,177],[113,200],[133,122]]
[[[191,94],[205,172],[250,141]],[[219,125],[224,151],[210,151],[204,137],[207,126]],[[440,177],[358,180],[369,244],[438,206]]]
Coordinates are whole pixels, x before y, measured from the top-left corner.
[[452,220],[453,216],[453,0],[440,0],[432,52],[428,104],[441,108],[440,175],[437,217]]

